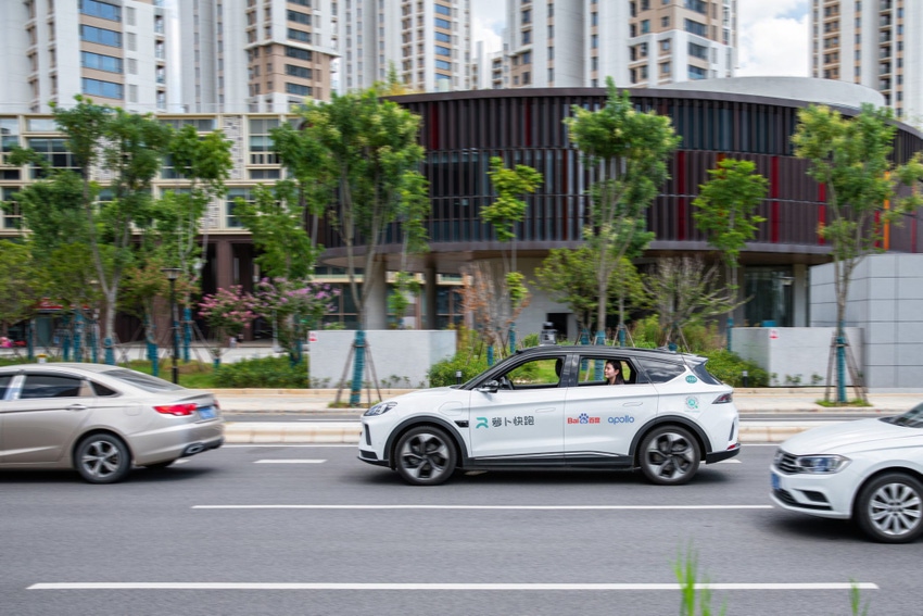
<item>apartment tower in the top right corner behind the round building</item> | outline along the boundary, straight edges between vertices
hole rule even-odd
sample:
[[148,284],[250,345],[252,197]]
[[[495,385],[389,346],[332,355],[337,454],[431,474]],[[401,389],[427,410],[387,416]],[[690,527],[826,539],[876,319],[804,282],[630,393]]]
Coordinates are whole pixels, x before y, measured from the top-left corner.
[[898,117],[920,125],[921,32],[923,4],[919,1],[812,0],[811,76],[873,88]]

